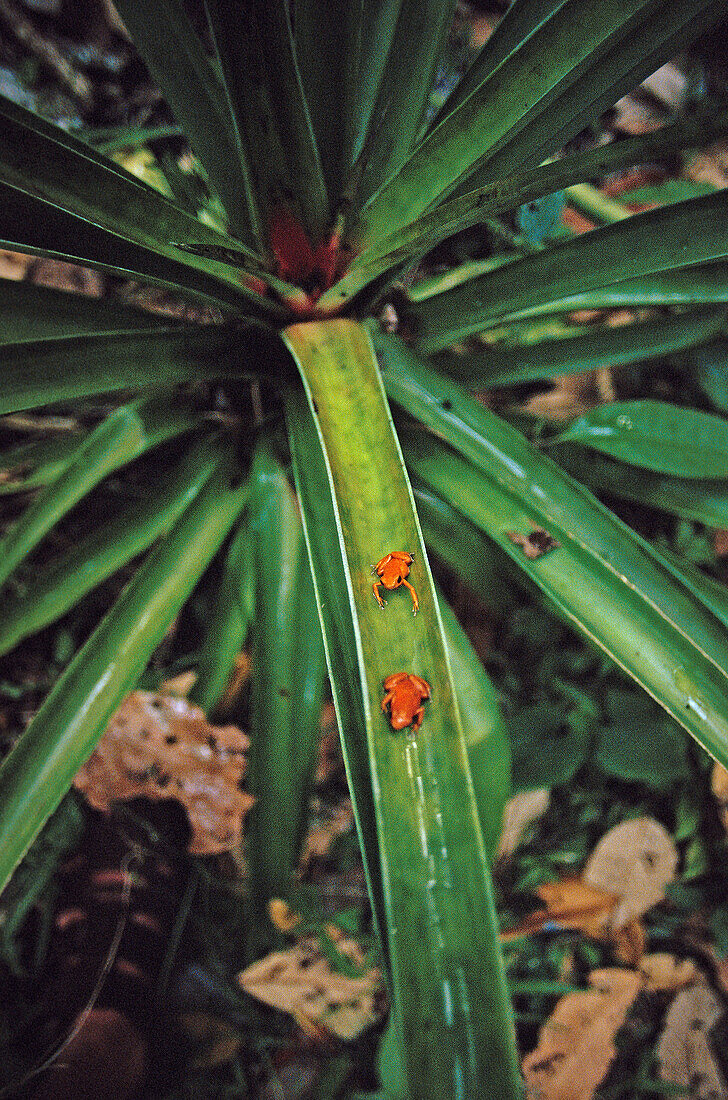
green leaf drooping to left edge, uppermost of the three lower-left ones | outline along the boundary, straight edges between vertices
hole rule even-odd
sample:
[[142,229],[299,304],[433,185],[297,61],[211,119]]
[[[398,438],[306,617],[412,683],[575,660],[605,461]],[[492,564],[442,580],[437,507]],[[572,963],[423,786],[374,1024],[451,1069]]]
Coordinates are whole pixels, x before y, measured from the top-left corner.
[[60,476],[40,493],[0,541],[0,585],[54,524],[95,485],[198,422],[194,404],[169,393],[115,409],[79,446]]

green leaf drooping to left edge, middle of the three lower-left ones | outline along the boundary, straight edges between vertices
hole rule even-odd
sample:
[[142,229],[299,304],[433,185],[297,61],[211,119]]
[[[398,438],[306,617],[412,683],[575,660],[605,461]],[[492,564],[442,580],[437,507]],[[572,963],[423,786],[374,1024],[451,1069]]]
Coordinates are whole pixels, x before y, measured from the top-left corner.
[[222,441],[208,435],[170,474],[157,477],[146,499],[118,506],[111,519],[89,531],[48,568],[26,571],[2,600],[0,653],[54,623],[167,531],[220,465],[223,453]]

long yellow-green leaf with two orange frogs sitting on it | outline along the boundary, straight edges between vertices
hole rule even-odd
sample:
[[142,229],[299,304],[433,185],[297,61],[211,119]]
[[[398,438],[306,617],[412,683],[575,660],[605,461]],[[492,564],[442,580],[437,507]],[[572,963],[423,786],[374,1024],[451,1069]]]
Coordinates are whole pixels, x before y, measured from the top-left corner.
[[[485,1089],[505,1100],[519,1094],[520,1075],[487,860],[435,595],[376,361],[351,321],[298,324],[285,337],[320,433],[339,527],[410,1092],[440,1100]],[[297,475],[304,482],[306,468]],[[372,593],[371,569],[394,549],[416,554],[416,617],[406,591],[393,592],[384,609]],[[317,587],[320,595],[318,579]],[[395,732],[382,710],[383,681],[400,670],[431,684],[418,730]],[[329,671],[341,680],[341,669]],[[350,733],[342,728],[342,736]],[[421,966],[423,955],[432,966]]]

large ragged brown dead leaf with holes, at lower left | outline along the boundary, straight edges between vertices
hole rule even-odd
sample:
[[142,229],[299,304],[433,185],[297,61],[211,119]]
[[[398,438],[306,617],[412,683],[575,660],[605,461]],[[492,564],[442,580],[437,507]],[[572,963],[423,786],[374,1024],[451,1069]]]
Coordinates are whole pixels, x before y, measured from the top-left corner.
[[240,842],[253,805],[240,789],[249,739],[236,726],[212,726],[199,706],[174,695],[134,691],[112,716],[74,778],[95,810],[146,798],[177,799],[192,828],[189,850],[227,851]]

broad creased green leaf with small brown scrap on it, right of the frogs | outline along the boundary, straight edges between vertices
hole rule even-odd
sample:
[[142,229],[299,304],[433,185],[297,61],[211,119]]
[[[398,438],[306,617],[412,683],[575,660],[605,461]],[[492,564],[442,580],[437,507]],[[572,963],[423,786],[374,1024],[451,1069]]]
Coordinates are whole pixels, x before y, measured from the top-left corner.
[[[376,332],[374,340],[390,399],[465,457],[434,437],[410,435],[409,469],[493,538],[704,748],[728,760],[723,624],[659,554],[522,436],[399,341]],[[545,549],[538,551],[537,539],[529,557],[522,540],[534,528],[545,532]],[[549,549],[549,537],[559,544]]]

